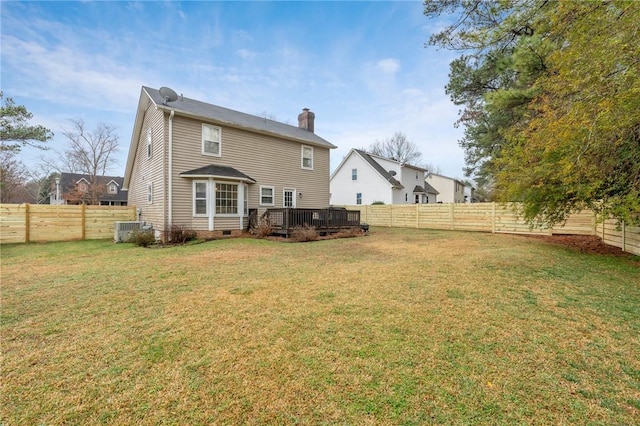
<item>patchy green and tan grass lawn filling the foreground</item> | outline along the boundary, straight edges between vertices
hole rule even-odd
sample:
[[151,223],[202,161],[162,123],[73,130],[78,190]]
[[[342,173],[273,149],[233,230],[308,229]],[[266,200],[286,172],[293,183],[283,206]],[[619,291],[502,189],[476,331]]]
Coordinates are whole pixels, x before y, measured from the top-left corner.
[[637,257],[374,228],[1,260],[4,426],[640,423]]

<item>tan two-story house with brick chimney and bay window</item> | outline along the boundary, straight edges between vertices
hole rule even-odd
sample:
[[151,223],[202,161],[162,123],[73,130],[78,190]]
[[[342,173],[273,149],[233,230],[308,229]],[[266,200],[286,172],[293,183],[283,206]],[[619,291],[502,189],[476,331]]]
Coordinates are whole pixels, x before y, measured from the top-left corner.
[[124,186],[159,236],[172,226],[203,236],[247,228],[249,212],[329,205],[329,151],[315,114],[298,126],[142,87]]

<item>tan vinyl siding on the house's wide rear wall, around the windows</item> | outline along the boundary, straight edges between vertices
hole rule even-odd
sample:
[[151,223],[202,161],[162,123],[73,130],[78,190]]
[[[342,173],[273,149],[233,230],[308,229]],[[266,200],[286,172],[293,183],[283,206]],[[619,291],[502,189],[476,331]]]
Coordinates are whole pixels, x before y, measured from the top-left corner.
[[[329,149],[313,147],[313,170],[301,167],[300,142],[257,134],[242,129],[222,128],[222,156],[202,155],[202,121],[185,117],[173,120],[173,223],[196,230],[208,229],[206,218],[193,217],[192,182],[180,173],[219,164],[234,167],[256,180],[249,184],[249,208],[260,208],[260,185],[275,189],[274,207],[282,207],[283,188],[295,188],[296,207],[329,205]],[[144,159],[143,159],[144,161]],[[221,228],[218,228],[221,226]],[[216,217],[215,229],[238,229],[238,218]]]

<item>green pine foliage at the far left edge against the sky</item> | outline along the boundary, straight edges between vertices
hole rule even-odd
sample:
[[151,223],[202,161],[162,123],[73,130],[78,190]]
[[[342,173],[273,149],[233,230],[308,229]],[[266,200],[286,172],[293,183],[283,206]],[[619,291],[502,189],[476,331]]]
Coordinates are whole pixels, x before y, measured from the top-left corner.
[[1,91],[0,101],[0,150],[19,152],[26,145],[47,149],[45,144],[53,138],[53,132],[44,126],[29,125],[33,114],[23,105],[16,105],[13,98],[4,98]]

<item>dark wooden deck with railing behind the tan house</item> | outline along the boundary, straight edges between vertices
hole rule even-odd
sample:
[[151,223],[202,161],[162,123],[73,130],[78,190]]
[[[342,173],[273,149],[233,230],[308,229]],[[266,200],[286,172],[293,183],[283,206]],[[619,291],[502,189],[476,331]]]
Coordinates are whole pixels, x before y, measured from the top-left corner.
[[[267,209],[262,215],[268,220],[274,234],[288,236],[296,227],[314,227],[319,234],[330,234],[345,229],[361,229],[360,211],[343,208],[327,209]],[[362,228],[364,229],[364,228]]]

